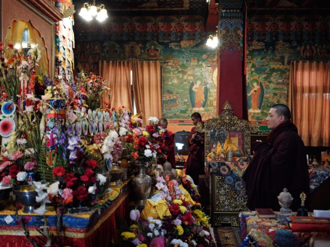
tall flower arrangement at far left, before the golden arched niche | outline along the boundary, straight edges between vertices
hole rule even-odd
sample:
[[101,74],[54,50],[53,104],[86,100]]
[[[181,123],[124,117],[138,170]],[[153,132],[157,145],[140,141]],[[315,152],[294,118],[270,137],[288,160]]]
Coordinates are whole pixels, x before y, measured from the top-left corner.
[[[34,80],[29,81],[29,79],[40,58],[38,45],[26,53],[24,50],[14,49],[12,43],[8,43],[8,46],[4,47],[4,43],[0,42],[0,88],[3,87],[14,102],[17,102],[18,95],[23,96],[34,90],[35,82]],[[22,80],[29,84],[21,85]]]

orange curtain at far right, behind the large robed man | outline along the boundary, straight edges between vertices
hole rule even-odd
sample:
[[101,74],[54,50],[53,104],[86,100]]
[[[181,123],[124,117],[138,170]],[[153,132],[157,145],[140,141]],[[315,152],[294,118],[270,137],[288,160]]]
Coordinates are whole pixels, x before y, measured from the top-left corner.
[[306,146],[330,146],[330,62],[292,62],[292,121]]

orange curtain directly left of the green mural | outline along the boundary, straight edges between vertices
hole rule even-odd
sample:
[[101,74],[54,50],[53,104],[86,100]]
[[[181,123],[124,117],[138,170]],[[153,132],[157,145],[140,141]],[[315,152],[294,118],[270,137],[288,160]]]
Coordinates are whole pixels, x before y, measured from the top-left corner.
[[137,112],[147,124],[149,117],[162,116],[160,63],[132,61],[131,64]]

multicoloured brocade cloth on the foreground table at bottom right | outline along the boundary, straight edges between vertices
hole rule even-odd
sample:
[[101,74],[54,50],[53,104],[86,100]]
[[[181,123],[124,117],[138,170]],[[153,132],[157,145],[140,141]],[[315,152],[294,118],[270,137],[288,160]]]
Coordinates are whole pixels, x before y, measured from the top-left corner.
[[239,214],[241,246],[302,246],[311,237],[330,237],[323,232],[292,232],[285,224],[276,219],[259,218],[255,211],[242,211]]

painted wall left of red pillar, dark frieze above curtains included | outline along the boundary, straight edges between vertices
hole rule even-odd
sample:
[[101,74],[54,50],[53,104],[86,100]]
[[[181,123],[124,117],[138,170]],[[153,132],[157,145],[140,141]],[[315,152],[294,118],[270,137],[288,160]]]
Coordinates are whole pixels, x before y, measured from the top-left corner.
[[201,16],[120,17],[86,23],[76,15],[76,71],[98,73],[99,60],[162,62],[162,113],[190,124],[191,113],[216,116],[217,51],[205,46]]

